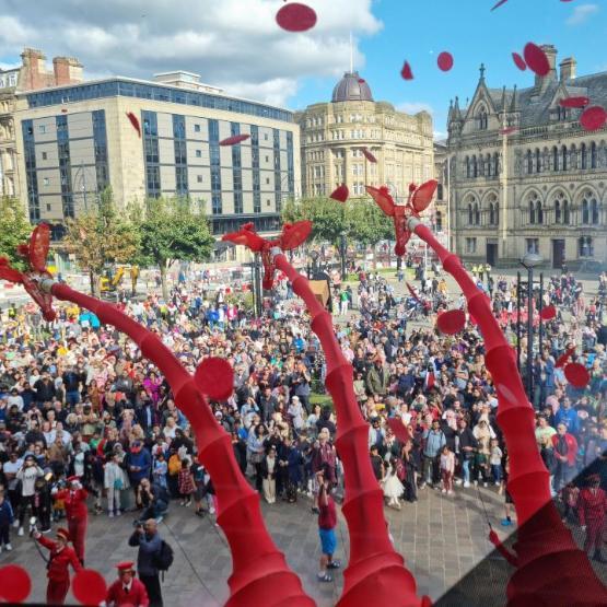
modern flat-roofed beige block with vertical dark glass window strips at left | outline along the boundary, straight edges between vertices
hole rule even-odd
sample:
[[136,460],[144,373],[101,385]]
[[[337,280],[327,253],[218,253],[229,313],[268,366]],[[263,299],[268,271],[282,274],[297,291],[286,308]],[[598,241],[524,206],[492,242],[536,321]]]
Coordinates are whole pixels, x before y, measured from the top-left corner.
[[[119,207],[187,196],[218,235],[246,221],[277,230],[283,200],[300,189],[293,114],[226,96],[188,72],[23,93],[15,120],[22,198],[31,220],[51,224],[56,237],[109,185]],[[244,133],[250,138],[240,145],[219,144]]]

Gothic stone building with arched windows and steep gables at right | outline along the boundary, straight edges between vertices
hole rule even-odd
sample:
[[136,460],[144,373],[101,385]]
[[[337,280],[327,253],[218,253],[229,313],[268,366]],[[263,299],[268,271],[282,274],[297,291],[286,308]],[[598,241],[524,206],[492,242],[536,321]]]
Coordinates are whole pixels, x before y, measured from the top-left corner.
[[448,114],[452,245],[468,261],[513,266],[526,253],[545,265],[597,269],[607,264],[607,131],[588,132],[587,96],[607,106],[607,72],[577,77],[576,61],[542,47],[546,77],[527,89],[490,89],[481,66],[468,107]]

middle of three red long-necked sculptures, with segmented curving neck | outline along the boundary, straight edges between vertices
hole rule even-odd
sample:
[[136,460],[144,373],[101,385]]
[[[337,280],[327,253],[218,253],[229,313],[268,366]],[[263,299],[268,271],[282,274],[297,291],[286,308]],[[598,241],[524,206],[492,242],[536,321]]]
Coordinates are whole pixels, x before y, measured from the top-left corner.
[[[367,453],[369,425],[358,406],[352,365],[343,357],[335,337],[331,315],[318,303],[307,279],[289,264],[277,241],[265,241],[252,229],[247,229],[245,234],[226,234],[224,240],[253,245],[253,250],[268,253],[271,258],[269,267],[285,273],[293,291],[304,300],[312,316],[312,330],[323,345],[327,361],[325,385],[331,395],[338,419],[336,446],[343,463],[346,488],[342,512],[350,534],[350,560],[343,572],[343,592],[338,605],[431,605],[429,597],[417,596],[413,575],[389,540],[384,517],[384,495],[373,475]],[[287,244],[290,244],[289,240]]]

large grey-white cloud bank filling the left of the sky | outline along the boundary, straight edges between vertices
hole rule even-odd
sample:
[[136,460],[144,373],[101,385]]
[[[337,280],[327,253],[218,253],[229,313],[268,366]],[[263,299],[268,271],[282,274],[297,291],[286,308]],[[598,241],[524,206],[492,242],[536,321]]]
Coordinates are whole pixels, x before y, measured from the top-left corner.
[[[54,0],[35,11],[0,0],[0,57],[25,46],[78,57],[85,75],[183,69],[227,93],[285,105],[302,77],[337,77],[350,65],[349,33],[380,32],[372,0],[307,0],[318,15],[302,34],[275,21],[280,0]],[[10,16],[8,16],[10,15]],[[358,67],[364,57],[355,49]]]

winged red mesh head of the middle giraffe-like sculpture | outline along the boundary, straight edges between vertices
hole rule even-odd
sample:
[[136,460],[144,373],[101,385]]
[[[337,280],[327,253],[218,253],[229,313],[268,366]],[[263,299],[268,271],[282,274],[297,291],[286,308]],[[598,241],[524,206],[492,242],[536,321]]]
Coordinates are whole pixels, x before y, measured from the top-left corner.
[[261,254],[261,262],[264,264],[264,283],[265,290],[269,291],[273,287],[276,265],[271,254],[272,248],[278,247],[282,250],[292,250],[297,248],[305,242],[312,232],[311,221],[297,221],[295,223],[285,223],[282,226],[282,233],[278,238],[267,241],[255,232],[253,223],[245,223],[238,232],[224,234],[222,241],[229,241],[236,245],[247,246],[254,253]]

